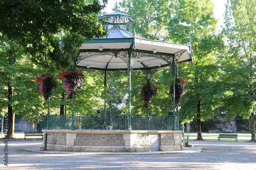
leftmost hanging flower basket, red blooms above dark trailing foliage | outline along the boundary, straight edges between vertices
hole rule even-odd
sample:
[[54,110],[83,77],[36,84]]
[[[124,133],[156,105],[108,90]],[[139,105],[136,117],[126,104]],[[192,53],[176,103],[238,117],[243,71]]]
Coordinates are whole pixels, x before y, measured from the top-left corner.
[[52,77],[52,75],[41,74],[35,77],[35,82],[40,83],[39,91],[41,95],[44,96],[45,101],[51,96],[52,89],[57,88],[57,83]]

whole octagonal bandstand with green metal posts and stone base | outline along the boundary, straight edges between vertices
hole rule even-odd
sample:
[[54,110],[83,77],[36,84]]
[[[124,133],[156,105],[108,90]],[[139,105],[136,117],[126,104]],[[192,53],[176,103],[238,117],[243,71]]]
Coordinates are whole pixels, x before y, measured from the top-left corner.
[[[108,27],[108,36],[84,40],[76,56],[77,68],[107,71],[126,70],[129,72],[127,86],[128,111],[119,116],[122,123],[113,129],[106,130],[108,117],[101,115],[102,126],[97,128],[83,128],[82,123],[92,117],[75,114],[67,115],[65,122],[71,122],[72,127],[54,128],[43,130],[47,134],[45,145],[48,150],[59,151],[84,151],[84,152],[151,152],[151,151],[178,151],[183,148],[182,131],[179,130],[179,115],[176,112],[175,98],[171,115],[162,115],[161,126],[154,124],[154,115],[143,115],[147,121],[146,128],[136,128],[142,121],[139,116],[131,113],[131,73],[132,70],[150,70],[170,66],[172,75],[177,78],[177,65],[180,62],[191,61],[191,49],[189,45],[174,44],[150,40],[131,32],[133,17],[120,12],[113,12],[99,18],[104,27]],[[106,87],[106,79],[104,80]],[[173,86],[175,88],[175,84]],[[175,93],[175,90],[173,90]],[[175,94],[174,94],[175,96]],[[52,117],[51,117],[52,116]],[[49,119],[54,119],[50,115]],[[55,116],[55,119],[58,119]],[[58,119],[60,120],[60,119]],[[155,119],[156,120],[156,119]],[[63,119],[61,119],[63,122]],[[111,119],[113,121],[113,118]],[[79,122],[79,123],[77,123]],[[79,125],[78,125],[79,124]]]

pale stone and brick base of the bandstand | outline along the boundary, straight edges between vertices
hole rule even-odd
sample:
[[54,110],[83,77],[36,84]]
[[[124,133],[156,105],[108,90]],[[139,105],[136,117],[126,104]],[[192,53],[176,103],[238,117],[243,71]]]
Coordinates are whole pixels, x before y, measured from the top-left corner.
[[47,150],[68,152],[180,151],[182,131],[43,130]]

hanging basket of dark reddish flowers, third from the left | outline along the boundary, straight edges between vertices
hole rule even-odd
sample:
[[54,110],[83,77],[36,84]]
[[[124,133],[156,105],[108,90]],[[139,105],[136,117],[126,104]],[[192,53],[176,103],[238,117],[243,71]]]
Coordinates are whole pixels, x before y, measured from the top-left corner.
[[156,83],[141,83],[142,86],[140,90],[140,100],[144,101],[143,108],[148,106],[148,103],[154,98],[157,94]]

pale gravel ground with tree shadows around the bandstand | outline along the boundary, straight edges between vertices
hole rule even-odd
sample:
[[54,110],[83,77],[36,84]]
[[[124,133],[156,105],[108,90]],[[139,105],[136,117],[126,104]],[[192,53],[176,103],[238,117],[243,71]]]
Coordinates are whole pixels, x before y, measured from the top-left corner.
[[8,140],[6,152],[0,142],[0,169],[256,169],[252,142],[192,141],[194,148],[165,154],[40,151],[42,140]]

